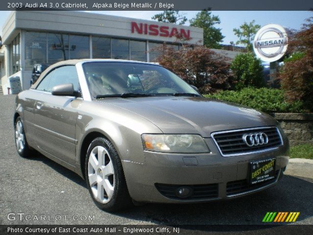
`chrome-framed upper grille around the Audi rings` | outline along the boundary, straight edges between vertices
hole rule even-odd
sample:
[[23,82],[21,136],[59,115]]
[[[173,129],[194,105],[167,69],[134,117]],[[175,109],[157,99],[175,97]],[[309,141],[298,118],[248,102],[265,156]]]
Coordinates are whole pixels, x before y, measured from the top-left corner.
[[[268,136],[268,143],[251,147],[248,146],[243,140],[243,136],[257,133],[265,133]],[[212,133],[211,136],[224,157],[265,152],[276,149],[283,144],[277,127],[222,131]]]

